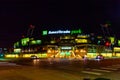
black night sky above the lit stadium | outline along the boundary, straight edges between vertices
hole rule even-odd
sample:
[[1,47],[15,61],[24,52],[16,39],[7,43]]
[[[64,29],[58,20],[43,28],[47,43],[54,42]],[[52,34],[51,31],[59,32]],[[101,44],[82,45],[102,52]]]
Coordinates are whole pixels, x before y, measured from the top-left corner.
[[119,36],[119,0],[1,0],[0,47],[8,47],[27,34],[30,24],[42,29],[81,28],[100,33],[100,24],[111,22]]

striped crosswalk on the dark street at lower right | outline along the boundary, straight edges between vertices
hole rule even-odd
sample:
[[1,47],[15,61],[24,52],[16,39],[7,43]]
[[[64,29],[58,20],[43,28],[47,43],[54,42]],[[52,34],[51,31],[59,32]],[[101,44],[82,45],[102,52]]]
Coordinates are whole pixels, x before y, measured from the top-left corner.
[[84,74],[90,74],[90,75],[104,75],[105,73],[110,73],[110,72],[114,72],[120,70],[120,64],[118,65],[112,65],[112,66],[107,66],[107,67],[101,67],[99,69],[90,69],[90,68],[86,68],[85,70],[81,71],[81,73]]

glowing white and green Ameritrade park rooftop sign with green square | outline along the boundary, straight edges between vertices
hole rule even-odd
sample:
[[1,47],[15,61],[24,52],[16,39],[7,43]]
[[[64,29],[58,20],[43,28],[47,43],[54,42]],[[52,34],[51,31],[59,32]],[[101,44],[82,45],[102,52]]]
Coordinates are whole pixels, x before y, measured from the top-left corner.
[[79,34],[79,33],[82,33],[81,29],[78,29],[78,30],[57,30],[57,31],[47,31],[47,30],[44,30],[42,32],[42,35],[48,35],[48,34]]

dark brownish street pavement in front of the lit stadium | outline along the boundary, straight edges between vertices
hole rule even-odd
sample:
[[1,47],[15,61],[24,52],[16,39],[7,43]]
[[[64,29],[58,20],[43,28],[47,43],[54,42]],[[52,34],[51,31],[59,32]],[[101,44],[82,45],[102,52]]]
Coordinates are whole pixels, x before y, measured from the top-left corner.
[[[50,60],[40,61],[38,59],[33,60],[34,65],[0,62],[0,80],[84,80],[85,78],[90,78],[90,80],[95,80],[96,78],[107,78],[110,80],[120,79],[120,64],[99,66],[98,62],[95,61],[92,63],[90,61],[91,64],[89,63],[84,66],[82,61],[70,62],[65,59],[61,61],[62,62]],[[39,63],[39,65],[37,63]],[[96,65],[94,66],[93,64]],[[101,62],[101,64],[103,63]],[[86,67],[88,65],[89,67]]]

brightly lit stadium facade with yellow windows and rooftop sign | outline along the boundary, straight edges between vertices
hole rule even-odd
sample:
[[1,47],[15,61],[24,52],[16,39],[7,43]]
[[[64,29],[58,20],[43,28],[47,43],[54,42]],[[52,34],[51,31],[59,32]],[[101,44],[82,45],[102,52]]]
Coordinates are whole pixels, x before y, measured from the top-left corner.
[[[114,47],[115,38],[105,40],[102,36],[84,34],[78,30],[42,31],[41,39],[23,38],[14,43],[14,55],[6,57],[30,58],[95,58],[97,55],[112,57],[120,52]],[[120,41],[119,41],[120,42]],[[111,47],[112,46],[112,47]],[[118,55],[118,54],[117,54]]]

